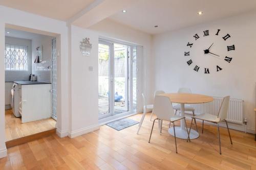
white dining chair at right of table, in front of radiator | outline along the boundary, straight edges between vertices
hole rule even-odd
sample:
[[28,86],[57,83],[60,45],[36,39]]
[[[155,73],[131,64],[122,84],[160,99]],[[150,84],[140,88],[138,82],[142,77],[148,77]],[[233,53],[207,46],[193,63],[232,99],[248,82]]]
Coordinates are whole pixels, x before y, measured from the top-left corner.
[[[207,122],[212,122],[212,123],[217,124],[217,126],[218,126],[218,138],[219,138],[220,154],[221,154],[221,138],[220,138],[220,127],[219,127],[220,125],[219,124],[223,120],[225,120],[226,125],[227,125],[227,131],[228,131],[230,143],[233,144],[232,143],[232,139],[231,139],[231,135],[230,135],[230,132],[229,132],[227,120],[226,120],[226,118],[227,118],[227,111],[228,111],[228,107],[229,107],[229,99],[230,99],[230,96],[225,96],[225,98],[222,100],[221,107],[219,109],[218,115],[212,115],[212,114],[208,114],[208,113],[203,113],[203,114],[199,114],[199,115],[196,115],[196,116],[192,117],[192,120],[191,120],[191,125],[192,125],[193,119],[194,120],[201,119],[201,120],[203,120],[203,123],[204,123],[204,120],[205,120]],[[190,133],[190,130],[191,130],[191,125],[190,125],[190,129],[189,129],[189,133]],[[202,133],[203,133],[203,130],[202,130]]]

